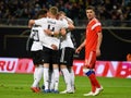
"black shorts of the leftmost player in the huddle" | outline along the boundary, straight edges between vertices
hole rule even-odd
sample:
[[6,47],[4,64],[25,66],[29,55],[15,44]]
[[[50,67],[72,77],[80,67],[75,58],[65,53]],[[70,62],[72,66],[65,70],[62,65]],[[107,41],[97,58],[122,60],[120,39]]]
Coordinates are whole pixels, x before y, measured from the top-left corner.
[[31,51],[32,58],[33,58],[33,63],[36,64],[43,64],[43,50],[37,50],[37,51]]

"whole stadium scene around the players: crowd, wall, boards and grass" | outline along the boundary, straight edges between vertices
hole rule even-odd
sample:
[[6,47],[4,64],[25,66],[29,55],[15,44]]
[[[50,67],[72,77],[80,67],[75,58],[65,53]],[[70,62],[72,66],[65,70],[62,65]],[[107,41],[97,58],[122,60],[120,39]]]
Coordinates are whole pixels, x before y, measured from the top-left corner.
[[[39,9],[57,5],[74,21],[76,29],[72,35],[78,47],[84,38],[87,23],[85,8],[88,4],[97,8],[104,34],[102,57],[95,69],[104,93],[97,98],[131,97],[131,62],[126,61],[127,54],[131,53],[131,0],[0,0],[1,98],[85,98],[82,95],[90,90],[90,82],[84,76],[75,76],[76,91],[73,95],[32,93],[34,65],[25,45],[29,35],[27,21]],[[83,75],[84,49],[74,58],[74,73]],[[60,78],[59,88],[64,89],[63,78]]]

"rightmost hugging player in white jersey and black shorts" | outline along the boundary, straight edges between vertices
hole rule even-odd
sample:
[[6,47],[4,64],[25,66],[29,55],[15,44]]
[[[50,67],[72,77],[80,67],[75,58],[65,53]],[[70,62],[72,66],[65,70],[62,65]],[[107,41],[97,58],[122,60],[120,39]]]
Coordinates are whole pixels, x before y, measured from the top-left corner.
[[[73,21],[66,16],[66,13],[59,12],[60,20],[73,24]],[[67,89],[60,94],[73,94],[74,93],[74,72],[73,72],[73,54],[74,54],[74,45],[71,39],[70,29],[67,30],[67,35],[61,40],[60,46],[60,69],[64,77]]]

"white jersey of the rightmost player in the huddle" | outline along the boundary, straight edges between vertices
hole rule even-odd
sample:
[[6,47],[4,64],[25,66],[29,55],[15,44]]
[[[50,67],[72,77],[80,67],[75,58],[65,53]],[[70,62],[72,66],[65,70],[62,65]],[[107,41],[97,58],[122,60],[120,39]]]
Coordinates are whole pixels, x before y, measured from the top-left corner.
[[[62,22],[64,21],[67,22],[67,20],[63,19]],[[61,41],[60,48],[66,48],[66,47],[74,48],[73,41],[71,39],[71,32],[68,32],[66,35],[66,39]]]

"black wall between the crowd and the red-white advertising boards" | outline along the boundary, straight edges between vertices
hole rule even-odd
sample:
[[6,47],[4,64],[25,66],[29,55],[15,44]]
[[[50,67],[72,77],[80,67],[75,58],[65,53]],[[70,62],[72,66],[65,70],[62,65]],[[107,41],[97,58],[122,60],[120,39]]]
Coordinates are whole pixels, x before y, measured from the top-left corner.
[[[76,27],[72,32],[72,39],[78,47],[84,39],[85,28]],[[29,58],[26,41],[29,29],[26,26],[0,27],[0,57]],[[104,27],[102,42],[102,61],[126,61],[131,53],[131,28]],[[74,59],[84,59],[84,49]]]

